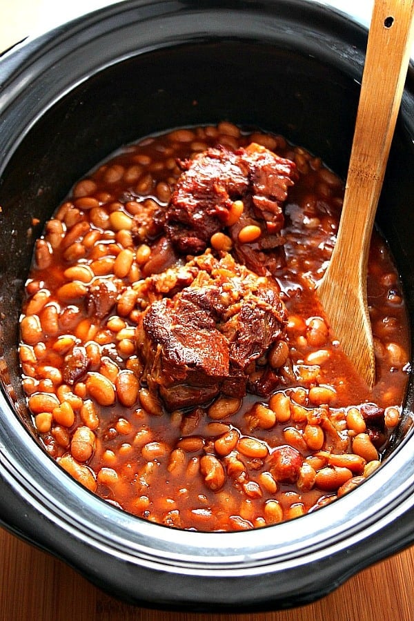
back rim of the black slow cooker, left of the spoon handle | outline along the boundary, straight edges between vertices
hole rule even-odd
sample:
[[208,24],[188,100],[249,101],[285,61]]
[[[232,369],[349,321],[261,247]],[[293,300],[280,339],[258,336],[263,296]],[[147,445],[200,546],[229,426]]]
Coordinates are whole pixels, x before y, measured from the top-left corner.
[[[257,8],[254,6],[251,0],[226,0],[224,3],[215,3],[213,1],[214,10],[208,11],[208,16],[219,16],[222,12],[226,11],[226,20],[215,19],[213,21],[214,26],[216,28],[214,38],[219,40],[220,37],[225,37],[226,39],[237,39],[240,37],[241,39],[251,39],[253,37],[253,27],[255,26],[255,19],[257,19]],[[156,14],[155,16],[152,14],[153,8],[155,6],[161,7],[161,12]],[[261,12],[264,12],[267,17],[267,13],[270,12],[278,18],[284,19],[284,23],[296,23],[297,19],[293,17],[292,8],[300,11],[301,14],[301,24],[302,28],[306,28],[306,24],[308,23],[308,19],[312,20],[312,23],[315,21],[319,22],[319,28],[326,32],[332,32],[333,36],[336,37],[337,30],[341,28],[346,30],[349,37],[352,38],[346,41],[346,46],[352,48],[351,41],[358,41],[359,45],[363,45],[366,40],[366,28],[359,24],[357,21],[353,21],[348,15],[343,12],[333,8],[324,6],[319,4],[319,2],[309,3],[307,0],[264,0],[261,3]],[[59,62],[68,62],[68,57],[70,54],[75,54],[79,52],[81,48],[87,48],[95,44],[95,42],[102,37],[101,28],[103,28],[103,22],[115,21],[113,23],[112,28],[116,28],[121,26],[127,30],[128,28],[132,28],[133,21],[130,23],[127,19],[124,19],[122,23],[119,23],[119,19],[121,14],[126,15],[127,13],[133,13],[138,11],[139,9],[143,10],[148,8],[150,10],[149,16],[144,15],[143,17],[138,16],[135,20],[138,22],[152,21],[152,23],[157,23],[158,17],[160,17],[163,21],[166,19],[166,16],[175,17],[176,14],[180,14],[182,24],[180,28],[183,28],[179,33],[181,39],[179,39],[179,44],[182,45],[184,43],[196,43],[199,41],[204,41],[206,39],[206,25],[200,27],[199,32],[194,32],[194,30],[190,28],[185,28],[185,19],[188,17],[191,19],[193,14],[201,13],[204,8],[210,8],[210,2],[203,3],[194,3],[191,0],[182,2],[177,2],[176,0],[124,0],[121,3],[108,6],[106,8],[97,10],[88,14],[86,17],[74,19],[62,26],[59,26],[52,30],[51,32],[47,32],[45,34],[40,35],[39,37],[28,37],[21,43],[18,43],[17,46],[14,46],[11,50],[8,50],[3,57],[0,57],[0,113],[3,117],[3,127],[7,121],[7,115],[10,114],[10,104],[13,104],[13,110],[11,112],[12,121],[15,127],[19,127],[19,138],[14,138],[13,143],[9,144],[7,137],[3,137],[3,140],[6,140],[3,143],[3,161],[0,162],[0,175],[4,166],[7,165],[8,160],[12,156],[12,152],[19,146],[19,143],[23,141],[24,137],[26,137],[27,133],[30,131],[30,128],[39,121],[39,118],[47,112],[49,108],[54,106],[62,97],[64,97],[68,92],[70,92],[73,88],[76,88],[81,83],[95,75],[97,72],[106,70],[110,66],[113,66],[116,63],[127,60],[130,57],[134,57],[135,55],[141,55],[146,52],[151,52],[155,49],[161,49],[168,46],[175,46],[177,41],[175,38],[177,37],[177,33],[172,35],[170,38],[166,37],[166,31],[161,28],[161,32],[159,32],[159,37],[161,37],[158,41],[148,41],[148,45],[140,44],[139,51],[137,51],[136,46],[133,46],[132,43],[128,44],[128,37],[124,37],[121,45],[127,46],[122,52],[117,52],[117,55],[114,57],[115,49],[112,47],[110,50],[110,54],[108,59],[102,61],[99,59],[99,64],[95,65],[92,63],[92,55],[85,55],[87,62],[83,59],[83,64],[79,63],[78,66],[71,68],[72,73],[70,74],[70,81],[68,84],[61,84],[59,86],[59,80],[65,75],[65,72],[59,72],[59,79],[55,81],[55,83],[50,82],[49,88],[43,88],[41,90],[41,97],[37,101],[37,114],[34,114],[34,110],[31,111],[32,118],[30,124],[24,122],[22,117],[23,115],[19,115],[19,111],[15,112],[14,108],[18,105],[19,101],[24,101],[27,96],[32,95],[30,90],[32,89],[32,82],[34,79],[39,79],[42,75],[46,74],[48,69],[53,69],[55,72],[58,72]],[[277,7],[277,9],[276,9]],[[119,8],[121,10],[119,10]],[[168,12],[168,9],[171,8],[171,12]],[[232,23],[228,15],[229,10],[237,10],[237,27],[235,28],[235,32],[230,37],[228,33],[226,33],[226,29],[228,28],[228,24]],[[249,28],[252,29],[248,36],[246,33],[240,32],[242,28],[240,24],[240,10],[243,10],[246,15],[248,15],[248,25]],[[243,14],[243,13],[242,13]],[[331,19],[335,18],[335,19]],[[211,25],[210,25],[211,26]],[[259,24],[257,24],[257,28],[259,28]],[[105,32],[105,36],[108,37],[111,30]],[[311,29],[309,29],[309,33]],[[288,44],[288,39],[286,38],[286,30],[282,30],[279,28],[270,29],[270,32],[265,32],[262,28],[255,30],[256,37],[261,37],[262,41],[266,41],[266,37],[270,40],[279,40],[284,41],[286,48],[289,49],[292,47],[292,44]],[[153,36],[153,32],[151,33]],[[77,46],[73,46],[74,40],[76,37],[79,39],[77,41]],[[185,37],[184,39],[182,37]],[[212,39],[212,35],[208,33],[208,39]],[[64,43],[70,40],[72,42],[72,50],[70,54],[68,54],[68,50],[65,50]],[[293,47],[295,50],[299,47],[299,50],[302,51],[305,55],[316,55],[317,50],[319,48],[319,38],[318,37],[305,37],[303,40],[295,39],[295,44]],[[337,52],[339,46],[339,39],[335,41],[333,44],[333,53],[331,54],[331,61],[335,64],[337,62]],[[109,46],[108,46],[109,47]],[[356,48],[356,46],[355,46]],[[45,60],[48,65],[44,66]],[[353,70],[355,74],[355,79],[358,81],[360,75],[362,75],[362,63],[358,62],[357,57],[354,59],[355,68]],[[89,63],[89,64],[88,64]],[[346,71],[346,63],[342,63],[342,69]],[[57,88],[59,86],[59,88]],[[3,94],[2,94],[2,91]],[[23,123],[23,124],[22,124]]]

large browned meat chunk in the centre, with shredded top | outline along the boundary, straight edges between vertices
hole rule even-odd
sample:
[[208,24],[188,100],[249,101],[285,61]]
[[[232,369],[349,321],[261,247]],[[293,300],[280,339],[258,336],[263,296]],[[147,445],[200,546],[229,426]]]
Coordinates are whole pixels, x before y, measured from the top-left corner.
[[[243,397],[259,359],[284,338],[286,324],[276,284],[230,255],[218,260],[206,253],[188,266],[198,268],[193,282],[152,302],[137,327],[141,380],[169,411],[206,403],[220,391]],[[275,375],[269,390],[277,381]]]

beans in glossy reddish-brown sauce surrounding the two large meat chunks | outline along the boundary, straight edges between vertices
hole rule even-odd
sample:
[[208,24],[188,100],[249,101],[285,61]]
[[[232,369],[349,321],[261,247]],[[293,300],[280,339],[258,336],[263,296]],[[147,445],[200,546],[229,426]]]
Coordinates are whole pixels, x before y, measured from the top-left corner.
[[[224,226],[222,248],[212,237],[198,257],[177,255],[159,213],[181,175],[177,160],[252,143],[294,161],[298,175],[284,201],[286,262],[265,276],[286,306],[288,351],[270,349],[255,371],[271,366],[279,383],[268,394],[220,393],[167,411],[143,375],[140,317],[172,296],[168,269],[211,261],[219,269],[233,246]],[[141,140],[79,181],[37,242],[21,315],[23,387],[46,451],[125,511],[204,531],[299,517],[363,482],[400,417],[408,324],[397,270],[375,234],[368,304],[377,383],[368,392],[315,297],[343,191],[306,150],[226,122]]]

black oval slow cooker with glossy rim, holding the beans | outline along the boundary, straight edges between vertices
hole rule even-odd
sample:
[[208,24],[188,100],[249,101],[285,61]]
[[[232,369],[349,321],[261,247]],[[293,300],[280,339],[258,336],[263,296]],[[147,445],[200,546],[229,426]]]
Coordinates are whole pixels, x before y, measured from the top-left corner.
[[[0,60],[0,521],[112,595],[194,611],[290,607],[414,541],[412,378],[389,454],[362,486],[238,533],[169,529],[83,489],[32,434],[19,382],[34,237],[79,177],[138,137],[222,119],[281,133],[345,177],[366,37],[306,0],[126,0]],[[413,169],[411,66],[377,214],[411,322]]]

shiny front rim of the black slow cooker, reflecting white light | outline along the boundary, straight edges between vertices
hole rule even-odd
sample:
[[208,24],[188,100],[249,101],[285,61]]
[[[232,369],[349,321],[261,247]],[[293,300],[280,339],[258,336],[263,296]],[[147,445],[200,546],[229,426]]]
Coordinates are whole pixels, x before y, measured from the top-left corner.
[[[0,397],[1,420],[4,417],[4,400],[3,395]],[[245,571],[247,566],[250,566],[251,571],[256,568],[259,573],[266,573],[266,571],[273,571],[272,568],[275,565],[290,564],[290,562],[297,562],[298,559],[304,563],[309,558],[331,555],[333,550],[340,550],[344,546],[348,552],[351,552],[353,540],[355,546],[362,544],[364,538],[372,530],[375,533],[380,533],[386,525],[400,517],[402,513],[412,509],[414,504],[412,494],[414,464],[408,461],[408,466],[411,465],[411,468],[405,467],[404,469],[401,468],[400,464],[402,461],[403,465],[407,466],[406,458],[402,456],[402,452],[408,443],[412,444],[413,442],[413,433],[410,433],[410,437],[406,438],[402,445],[398,446],[393,454],[388,457],[386,464],[383,464],[379,471],[353,491],[354,499],[359,495],[364,500],[362,503],[353,503],[352,509],[357,513],[357,517],[354,516],[353,520],[338,520],[336,515],[337,524],[335,524],[335,520],[331,519],[335,517],[331,514],[339,513],[341,505],[344,507],[345,514],[350,513],[351,507],[348,504],[348,499],[343,497],[324,507],[322,516],[318,511],[300,517],[300,523],[303,526],[309,525],[309,527],[308,529],[302,528],[302,537],[296,537],[296,539],[292,535],[295,534],[297,520],[267,526],[265,529],[233,533],[201,533],[170,529],[168,526],[152,524],[110,506],[101,498],[84,489],[63,469],[59,466],[55,467],[57,464],[46,455],[41,446],[28,433],[23,435],[19,433],[23,426],[17,417],[12,420],[12,423],[14,433],[9,433],[7,437],[4,437],[4,433],[0,433],[2,475],[21,497],[26,498],[30,506],[48,520],[57,521],[62,530],[75,535],[80,541],[94,545],[97,549],[106,549],[109,553],[115,553],[130,562],[168,565],[172,571],[193,570],[198,575],[203,573],[203,567],[208,565],[208,573],[214,573],[215,570],[219,573],[232,573],[233,571],[237,572],[238,567],[242,567],[242,570]],[[10,432],[10,429],[8,431]],[[8,448],[10,446],[12,449]],[[30,468],[32,460],[36,460],[38,466],[41,464],[43,474],[48,473],[49,479],[46,476],[37,478],[39,473],[33,472]],[[402,480],[400,480],[398,473],[400,473],[400,477],[402,476]],[[62,490],[59,500],[56,500],[53,494],[56,489]],[[375,492],[378,493],[384,489],[387,490],[386,500],[384,498],[379,506],[378,502],[375,501]],[[46,491],[48,492],[47,495]],[[370,491],[371,493],[369,493]],[[391,491],[394,492],[393,502],[389,502]],[[374,499],[372,498],[373,493]],[[67,506],[62,509],[63,503],[59,502],[65,499],[72,500],[70,513],[68,513]],[[361,506],[364,504],[368,504],[368,515],[366,515],[367,509],[361,511]],[[85,507],[87,508],[86,516],[83,515]],[[105,511],[102,511],[103,507]],[[111,526],[108,530],[105,529],[107,522],[102,520],[103,514]],[[322,524],[319,523],[318,528],[315,529],[314,526],[310,525],[310,518],[313,522],[322,522]],[[351,522],[353,523],[352,528]],[[139,524],[139,533],[134,528],[137,524]],[[263,542],[261,544],[257,541],[262,538],[266,531],[280,535],[277,538],[276,547],[269,545],[268,542],[263,545]],[[286,535],[286,531],[293,531],[293,533],[288,532]],[[136,539],[138,534],[139,537]],[[213,540],[215,541],[213,542]],[[281,554],[280,542],[286,540],[289,544]],[[146,546],[145,541],[149,541],[151,546]],[[172,552],[166,549],[166,546],[168,547],[171,544],[175,546]],[[188,551],[189,548],[190,551]],[[246,555],[250,549],[254,549],[255,553],[251,554],[250,561],[247,562]],[[235,553],[236,550],[237,553]],[[233,555],[230,555],[229,551],[233,551]],[[199,555],[200,558],[196,559],[194,555]],[[232,557],[233,561],[231,560]]]

